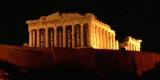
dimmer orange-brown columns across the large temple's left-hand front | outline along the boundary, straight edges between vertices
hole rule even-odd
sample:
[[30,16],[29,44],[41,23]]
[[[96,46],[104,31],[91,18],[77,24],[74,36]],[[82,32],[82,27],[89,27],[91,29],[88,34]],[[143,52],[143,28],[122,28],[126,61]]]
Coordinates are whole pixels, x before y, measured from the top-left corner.
[[[77,24],[79,26],[79,32],[76,26],[67,25],[70,27],[68,35],[66,35],[66,26],[56,26],[52,28],[53,34],[49,33],[49,28],[44,29],[30,29],[29,30],[29,46],[31,47],[87,47],[88,46],[88,24]],[[58,27],[62,28],[62,32],[58,33]],[[44,31],[42,31],[44,30]],[[49,40],[49,35],[53,35],[53,41]],[[70,36],[71,35],[71,36]],[[52,37],[52,36],[51,36]],[[66,43],[66,38],[70,38],[70,41]],[[77,43],[76,43],[77,42]],[[54,43],[50,45],[49,43]],[[62,44],[62,45],[61,45]],[[71,45],[71,46],[69,46]],[[76,46],[78,45],[78,46]]]

